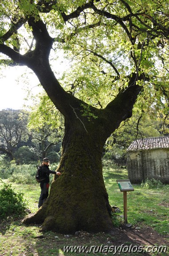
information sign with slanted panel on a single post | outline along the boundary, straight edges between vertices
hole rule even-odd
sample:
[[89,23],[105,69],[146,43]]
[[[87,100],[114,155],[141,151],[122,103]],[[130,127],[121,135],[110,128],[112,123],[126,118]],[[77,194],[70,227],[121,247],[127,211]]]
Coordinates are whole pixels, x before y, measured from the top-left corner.
[[127,191],[134,191],[129,179],[116,180],[118,187],[123,192],[124,222],[127,224]]

